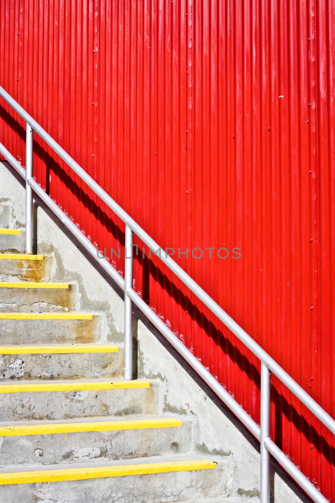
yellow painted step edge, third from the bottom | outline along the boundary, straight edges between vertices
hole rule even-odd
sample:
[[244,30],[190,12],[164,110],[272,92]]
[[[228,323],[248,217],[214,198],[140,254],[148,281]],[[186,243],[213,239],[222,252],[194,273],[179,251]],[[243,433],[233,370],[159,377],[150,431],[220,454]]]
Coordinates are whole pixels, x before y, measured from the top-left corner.
[[32,393],[47,391],[102,391],[111,389],[150,388],[149,381],[91,381],[91,382],[37,382],[26,384],[0,384],[0,393]]

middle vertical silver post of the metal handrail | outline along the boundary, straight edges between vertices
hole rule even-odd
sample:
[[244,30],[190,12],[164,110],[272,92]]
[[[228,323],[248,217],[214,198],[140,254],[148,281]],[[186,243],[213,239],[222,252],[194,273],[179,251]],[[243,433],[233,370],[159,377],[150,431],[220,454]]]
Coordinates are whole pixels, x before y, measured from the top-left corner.
[[133,302],[127,291],[133,288],[133,231],[126,224],[125,238],[125,379],[133,379]]

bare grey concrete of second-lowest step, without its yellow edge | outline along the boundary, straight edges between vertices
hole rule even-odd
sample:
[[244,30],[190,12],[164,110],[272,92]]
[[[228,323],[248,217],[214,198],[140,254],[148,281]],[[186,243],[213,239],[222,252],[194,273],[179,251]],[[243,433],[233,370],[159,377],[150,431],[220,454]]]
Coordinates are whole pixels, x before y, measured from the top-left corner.
[[[173,416],[169,414],[167,417]],[[157,418],[157,416],[148,414],[127,416],[127,420],[147,420],[149,418]],[[181,419],[183,425],[176,428],[0,437],[1,463],[2,466],[52,465],[64,462],[72,464],[79,461],[104,462],[105,460],[134,456],[148,457],[159,454],[186,453],[192,448],[192,420],[190,418]],[[120,421],[120,417],[91,418],[91,421],[113,420]],[[83,420],[81,419],[81,421]],[[88,422],[87,419],[85,422]],[[8,425],[1,423],[1,426]],[[36,449],[42,449],[42,456],[35,455]]]

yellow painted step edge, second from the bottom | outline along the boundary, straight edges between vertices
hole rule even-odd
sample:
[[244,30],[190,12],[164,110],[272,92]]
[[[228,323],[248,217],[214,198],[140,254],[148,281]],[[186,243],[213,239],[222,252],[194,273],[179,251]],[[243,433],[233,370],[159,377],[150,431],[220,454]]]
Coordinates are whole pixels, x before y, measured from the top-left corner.
[[97,421],[91,423],[59,423],[33,426],[0,427],[0,437],[28,435],[54,435],[57,433],[114,432],[121,430],[145,430],[153,428],[181,427],[180,419],[144,419],[134,421]]

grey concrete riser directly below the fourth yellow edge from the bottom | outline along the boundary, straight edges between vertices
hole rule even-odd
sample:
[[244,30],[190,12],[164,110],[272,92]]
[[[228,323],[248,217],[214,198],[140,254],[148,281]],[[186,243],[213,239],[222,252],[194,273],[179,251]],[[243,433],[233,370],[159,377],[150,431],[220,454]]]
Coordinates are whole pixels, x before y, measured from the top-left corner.
[[108,379],[121,378],[123,372],[123,348],[120,348],[118,353],[0,354],[0,380],[93,379],[95,377]]

